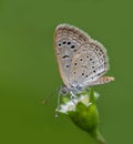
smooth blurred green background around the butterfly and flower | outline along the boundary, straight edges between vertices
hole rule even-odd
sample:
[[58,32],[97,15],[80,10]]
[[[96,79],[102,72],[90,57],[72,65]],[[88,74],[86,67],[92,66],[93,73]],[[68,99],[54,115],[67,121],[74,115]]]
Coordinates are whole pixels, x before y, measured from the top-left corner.
[[[115,82],[95,88],[100,130],[109,144],[133,143],[133,1],[0,1],[0,144],[96,144],[65,115],[54,117],[62,84],[53,32],[59,23],[86,31],[108,49]],[[47,105],[45,96],[52,95]]]

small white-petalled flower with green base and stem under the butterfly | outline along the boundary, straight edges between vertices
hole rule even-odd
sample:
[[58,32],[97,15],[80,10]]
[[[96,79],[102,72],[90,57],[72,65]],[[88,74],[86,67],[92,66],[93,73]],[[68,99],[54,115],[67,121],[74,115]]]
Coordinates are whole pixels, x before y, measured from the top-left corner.
[[98,130],[99,112],[95,105],[98,96],[93,90],[86,90],[72,100],[64,99],[59,112],[68,114],[78,127],[88,132],[99,144],[106,144]]

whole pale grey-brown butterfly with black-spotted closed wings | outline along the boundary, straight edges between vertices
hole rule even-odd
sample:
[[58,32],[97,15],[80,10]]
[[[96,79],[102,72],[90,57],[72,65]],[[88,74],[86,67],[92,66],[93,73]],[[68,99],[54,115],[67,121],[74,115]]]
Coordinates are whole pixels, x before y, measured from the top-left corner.
[[105,48],[88,33],[70,24],[59,24],[54,32],[54,50],[64,85],[60,93],[75,96],[86,88],[114,81],[104,76],[109,70]]

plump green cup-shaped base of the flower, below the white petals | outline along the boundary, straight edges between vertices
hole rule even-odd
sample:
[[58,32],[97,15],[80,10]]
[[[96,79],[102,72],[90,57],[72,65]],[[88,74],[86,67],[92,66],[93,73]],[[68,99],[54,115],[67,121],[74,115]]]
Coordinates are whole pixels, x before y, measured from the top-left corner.
[[98,127],[99,113],[94,104],[86,106],[79,102],[75,111],[70,111],[69,115],[75,125],[89,133]]

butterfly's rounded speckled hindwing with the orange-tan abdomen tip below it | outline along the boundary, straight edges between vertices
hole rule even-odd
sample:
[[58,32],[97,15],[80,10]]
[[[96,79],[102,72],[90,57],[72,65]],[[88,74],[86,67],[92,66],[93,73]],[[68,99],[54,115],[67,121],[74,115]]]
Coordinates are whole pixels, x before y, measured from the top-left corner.
[[101,79],[108,70],[109,60],[104,47],[91,39],[79,48],[72,59],[71,83],[86,88],[110,82],[113,78]]

